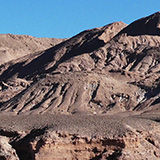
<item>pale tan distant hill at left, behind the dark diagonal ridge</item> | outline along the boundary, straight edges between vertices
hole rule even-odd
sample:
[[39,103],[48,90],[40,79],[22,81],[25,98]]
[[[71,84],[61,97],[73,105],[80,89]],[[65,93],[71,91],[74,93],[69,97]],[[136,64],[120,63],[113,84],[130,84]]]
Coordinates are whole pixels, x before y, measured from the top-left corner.
[[0,34],[0,65],[8,61],[46,50],[65,39],[35,38],[26,35]]

